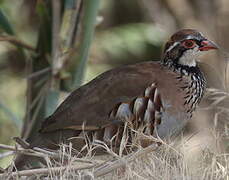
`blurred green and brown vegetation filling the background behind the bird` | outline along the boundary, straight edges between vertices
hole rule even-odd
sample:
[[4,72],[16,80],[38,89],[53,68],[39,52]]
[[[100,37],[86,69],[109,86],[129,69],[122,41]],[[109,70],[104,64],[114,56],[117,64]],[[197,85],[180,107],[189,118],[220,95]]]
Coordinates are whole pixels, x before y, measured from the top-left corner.
[[[180,28],[196,28],[222,47],[202,62],[208,86],[227,92],[228,18],[227,0],[1,0],[0,143],[32,136],[71,90],[99,73],[159,60]],[[228,96],[220,91],[209,91],[185,131],[191,166],[203,150],[228,152]],[[1,166],[8,162],[0,156]]]

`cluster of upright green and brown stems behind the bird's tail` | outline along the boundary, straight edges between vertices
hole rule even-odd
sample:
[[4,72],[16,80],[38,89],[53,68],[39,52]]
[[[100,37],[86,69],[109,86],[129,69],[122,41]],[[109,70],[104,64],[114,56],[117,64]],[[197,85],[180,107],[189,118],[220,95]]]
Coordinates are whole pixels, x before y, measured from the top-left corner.
[[[27,113],[22,128],[22,137],[28,141],[32,141],[44,118],[56,109],[61,91],[73,90],[81,84],[98,6],[99,0],[37,2],[40,22],[37,55],[31,57],[29,71],[31,74],[47,72],[28,81]],[[70,19],[65,19],[69,11]],[[63,28],[68,33],[66,36],[61,36]],[[78,33],[78,28],[82,29],[81,33]],[[80,43],[76,46],[78,41]],[[66,63],[71,68],[66,68]],[[62,76],[63,72],[68,74],[67,78]],[[39,81],[43,83],[37,85]],[[68,82],[67,87],[65,81]],[[61,83],[65,86],[60,86]]]

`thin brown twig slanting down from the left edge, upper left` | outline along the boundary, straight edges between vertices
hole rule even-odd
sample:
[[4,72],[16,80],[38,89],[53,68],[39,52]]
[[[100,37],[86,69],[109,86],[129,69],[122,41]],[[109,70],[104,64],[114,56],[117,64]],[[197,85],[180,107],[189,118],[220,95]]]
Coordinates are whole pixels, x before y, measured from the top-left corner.
[[10,43],[12,43],[12,44],[14,44],[16,46],[21,46],[23,48],[26,48],[26,49],[28,49],[30,51],[36,51],[36,49],[33,46],[31,46],[31,45],[29,45],[29,44],[17,39],[14,36],[2,36],[1,35],[0,36],[0,41],[7,41],[7,42],[10,42]]

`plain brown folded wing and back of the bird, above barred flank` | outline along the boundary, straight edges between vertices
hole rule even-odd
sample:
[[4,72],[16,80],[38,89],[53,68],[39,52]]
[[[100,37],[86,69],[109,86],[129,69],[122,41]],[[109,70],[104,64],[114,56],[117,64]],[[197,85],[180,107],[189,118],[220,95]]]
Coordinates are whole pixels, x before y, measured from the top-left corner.
[[107,71],[75,90],[48,117],[41,132],[59,129],[97,130],[108,126],[109,115],[117,104],[144,94],[155,77],[164,76],[159,63],[145,62]]

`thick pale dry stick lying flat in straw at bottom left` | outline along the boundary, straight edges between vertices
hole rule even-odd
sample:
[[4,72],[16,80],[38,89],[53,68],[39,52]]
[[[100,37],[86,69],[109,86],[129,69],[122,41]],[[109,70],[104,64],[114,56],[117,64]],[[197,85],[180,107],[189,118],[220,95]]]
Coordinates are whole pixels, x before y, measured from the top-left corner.
[[[87,164],[81,164],[78,163],[77,165],[73,166],[65,166],[65,167],[53,167],[53,168],[40,168],[40,169],[30,169],[30,170],[23,170],[23,171],[17,171],[17,172],[12,172],[10,173],[11,177],[17,177],[17,176],[32,176],[32,175],[47,175],[50,172],[52,173],[62,173],[65,170],[84,170],[84,169],[91,169],[95,167],[95,165],[87,165]],[[0,179],[7,177],[6,174],[0,174]]]

